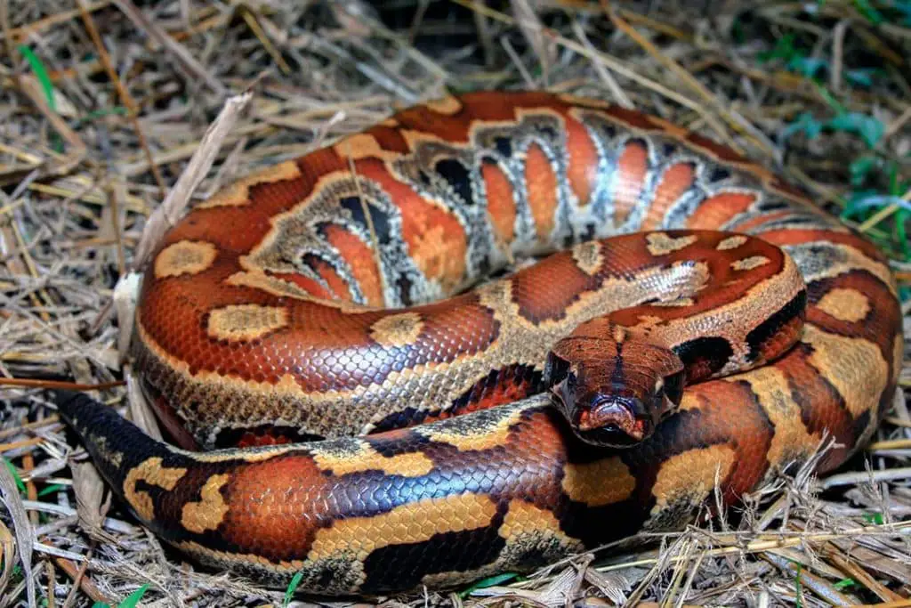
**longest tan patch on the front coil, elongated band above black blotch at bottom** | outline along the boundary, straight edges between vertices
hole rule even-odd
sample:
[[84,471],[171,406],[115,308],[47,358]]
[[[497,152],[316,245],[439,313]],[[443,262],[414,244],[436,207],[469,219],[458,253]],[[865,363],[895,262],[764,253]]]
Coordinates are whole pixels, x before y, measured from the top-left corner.
[[489,526],[496,502],[482,494],[457,494],[425,499],[371,517],[336,520],[313,539],[307,559],[313,562],[352,555],[364,560],[372,551],[390,545],[427,541],[436,534]]

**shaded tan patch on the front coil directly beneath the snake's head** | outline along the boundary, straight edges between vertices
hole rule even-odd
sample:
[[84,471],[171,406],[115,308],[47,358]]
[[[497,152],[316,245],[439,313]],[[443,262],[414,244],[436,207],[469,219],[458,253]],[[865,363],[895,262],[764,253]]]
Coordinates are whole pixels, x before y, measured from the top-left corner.
[[563,491],[571,500],[603,507],[630,498],[636,478],[619,456],[563,468]]

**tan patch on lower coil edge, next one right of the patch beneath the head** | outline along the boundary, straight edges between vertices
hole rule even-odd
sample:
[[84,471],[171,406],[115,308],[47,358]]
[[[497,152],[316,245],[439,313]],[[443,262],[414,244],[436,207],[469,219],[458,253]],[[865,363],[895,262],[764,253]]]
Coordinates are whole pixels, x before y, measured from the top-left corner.
[[734,450],[728,446],[691,449],[664,461],[651,493],[652,514],[674,505],[696,506],[709,497],[715,480],[722,482],[731,472]]

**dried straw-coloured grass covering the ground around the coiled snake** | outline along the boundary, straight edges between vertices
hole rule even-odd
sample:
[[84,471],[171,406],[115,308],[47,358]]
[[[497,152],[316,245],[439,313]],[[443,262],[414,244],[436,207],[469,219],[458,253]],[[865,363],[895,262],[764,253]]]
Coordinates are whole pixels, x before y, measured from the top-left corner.
[[[196,572],[116,505],[107,511],[92,469],[67,467],[72,449],[42,392],[12,380],[74,378],[122,404],[114,286],[142,255],[143,230],[257,165],[446,89],[547,87],[706,131],[835,211],[850,190],[849,159],[873,155],[909,179],[907,23],[874,23],[865,2],[830,0],[815,15],[756,3],[736,41],[742,5],[704,5],[523,0],[507,15],[471,0],[0,0],[0,452],[11,465],[0,467],[0,605],[117,603],[142,584],[149,606],[282,602],[282,593]],[[806,57],[834,66],[819,84],[763,61],[789,33],[808,42]],[[844,70],[871,60],[882,69],[869,86],[846,79]],[[245,111],[233,127],[187,170],[225,102],[248,89],[235,99]],[[883,125],[875,149],[841,131],[784,145],[801,112],[832,114],[828,96]],[[897,260],[891,222],[911,191],[897,194],[858,223],[896,254],[907,286],[911,264]],[[153,221],[157,208],[167,211]],[[907,354],[902,386],[911,386]],[[783,479],[736,523],[713,520],[472,593],[427,590],[386,603],[908,606],[909,479],[902,394],[875,443],[841,472]]]

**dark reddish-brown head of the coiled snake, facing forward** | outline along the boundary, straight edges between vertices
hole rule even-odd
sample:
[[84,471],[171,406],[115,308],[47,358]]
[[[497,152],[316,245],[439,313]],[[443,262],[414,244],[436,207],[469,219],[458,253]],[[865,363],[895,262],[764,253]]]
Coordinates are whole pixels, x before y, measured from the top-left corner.
[[544,379],[579,438],[628,448],[676,410],[684,378],[683,363],[670,348],[597,319],[554,345]]

